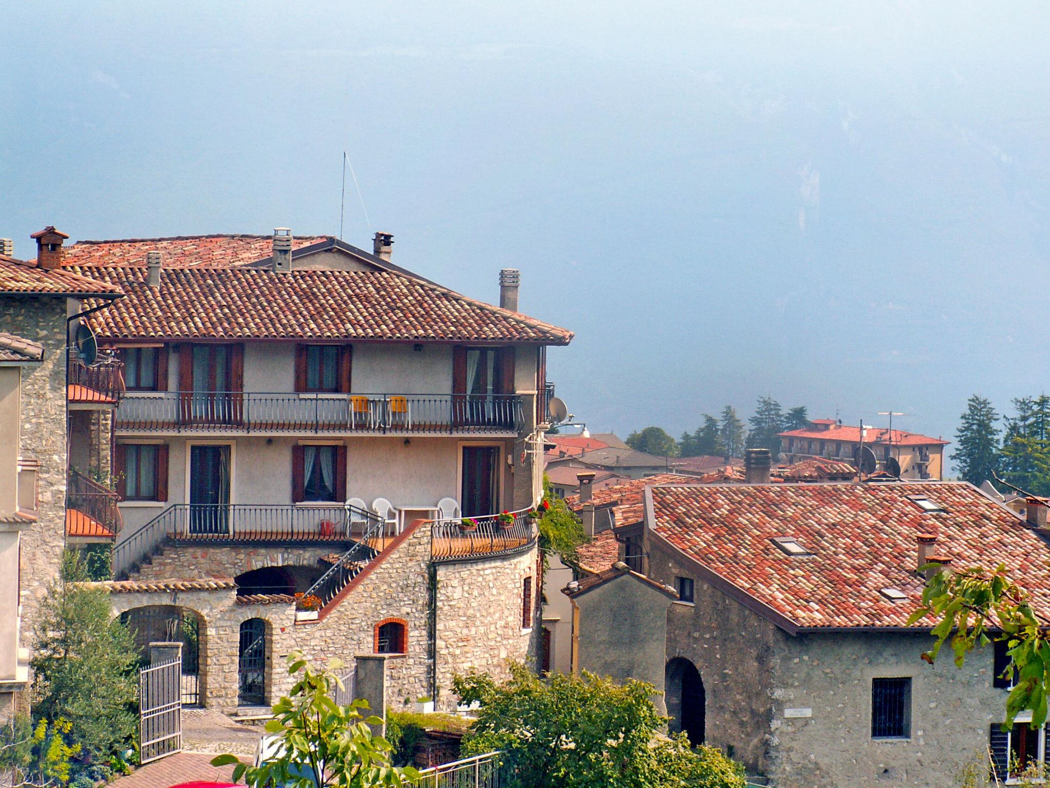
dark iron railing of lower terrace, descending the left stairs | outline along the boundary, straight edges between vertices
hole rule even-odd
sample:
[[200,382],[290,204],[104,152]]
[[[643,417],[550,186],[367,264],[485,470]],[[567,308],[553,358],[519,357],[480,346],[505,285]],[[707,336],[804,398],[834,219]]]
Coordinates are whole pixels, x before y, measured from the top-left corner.
[[373,512],[337,505],[175,503],[113,547],[113,577],[124,577],[164,541],[348,542],[382,520]]

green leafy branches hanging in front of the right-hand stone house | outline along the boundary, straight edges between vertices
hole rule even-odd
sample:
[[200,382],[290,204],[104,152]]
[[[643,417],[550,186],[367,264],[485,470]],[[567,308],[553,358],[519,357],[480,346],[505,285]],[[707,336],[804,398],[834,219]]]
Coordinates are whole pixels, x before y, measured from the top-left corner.
[[1025,589],[1007,577],[1003,564],[990,572],[975,566],[937,573],[926,582],[922,605],[908,618],[908,624],[927,615],[934,616],[938,623],[932,631],[933,647],[923,655],[924,660],[932,665],[948,643],[956,666],[962,667],[974,648],[1004,641],[1011,663],[1003,676],[1014,682],[1006,699],[1004,727],[1012,727],[1017,714],[1028,710],[1032,726],[1046,722],[1050,631],[1035,617]]

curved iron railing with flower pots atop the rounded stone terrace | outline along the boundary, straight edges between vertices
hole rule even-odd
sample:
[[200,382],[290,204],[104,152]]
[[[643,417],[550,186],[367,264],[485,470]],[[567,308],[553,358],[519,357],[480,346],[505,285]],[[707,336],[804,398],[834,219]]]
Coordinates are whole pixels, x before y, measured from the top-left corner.
[[528,549],[539,535],[528,513],[527,509],[509,513],[509,523],[501,515],[434,520],[430,557],[439,562],[470,561]]

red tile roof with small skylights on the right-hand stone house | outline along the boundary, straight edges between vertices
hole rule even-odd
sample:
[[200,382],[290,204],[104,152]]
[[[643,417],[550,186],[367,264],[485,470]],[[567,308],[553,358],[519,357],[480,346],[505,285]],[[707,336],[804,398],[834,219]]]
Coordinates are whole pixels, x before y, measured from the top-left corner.
[[[946,511],[924,512],[909,495]],[[934,553],[954,565],[1004,563],[1050,620],[1050,547],[964,482],[657,486],[651,496],[653,538],[789,631],[904,627],[922,594],[916,537],[923,533],[938,536]],[[792,537],[812,555],[789,556],[774,537]],[[883,588],[907,600],[892,602]]]

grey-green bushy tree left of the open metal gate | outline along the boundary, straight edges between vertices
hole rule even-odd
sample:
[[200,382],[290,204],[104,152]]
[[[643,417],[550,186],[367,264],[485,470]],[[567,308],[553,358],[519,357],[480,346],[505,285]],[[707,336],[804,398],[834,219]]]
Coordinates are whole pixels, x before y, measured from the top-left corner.
[[108,763],[134,740],[139,650],[110,617],[109,595],[85,586],[72,552],[40,602],[32,661],[34,716],[69,725],[77,760]]

